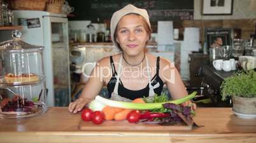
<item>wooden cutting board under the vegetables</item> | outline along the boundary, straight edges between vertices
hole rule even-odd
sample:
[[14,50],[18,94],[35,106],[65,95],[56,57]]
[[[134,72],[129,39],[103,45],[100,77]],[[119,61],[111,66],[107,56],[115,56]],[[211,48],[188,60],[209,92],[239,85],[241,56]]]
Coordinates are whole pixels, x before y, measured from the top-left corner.
[[100,125],[92,123],[92,121],[80,121],[79,128],[81,130],[109,130],[109,131],[168,131],[168,130],[191,130],[192,126],[185,123],[178,123],[176,125],[159,125],[156,123],[129,123],[124,121],[104,121]]

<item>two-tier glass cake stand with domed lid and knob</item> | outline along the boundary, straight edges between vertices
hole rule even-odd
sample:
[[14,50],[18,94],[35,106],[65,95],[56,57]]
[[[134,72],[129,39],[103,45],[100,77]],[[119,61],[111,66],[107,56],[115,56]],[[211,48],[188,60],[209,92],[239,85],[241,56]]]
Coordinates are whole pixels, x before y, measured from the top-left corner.
[[0,117],[22,118],[46,111],[46,85],[43,66],[44,47],[20,40],[0,43]]

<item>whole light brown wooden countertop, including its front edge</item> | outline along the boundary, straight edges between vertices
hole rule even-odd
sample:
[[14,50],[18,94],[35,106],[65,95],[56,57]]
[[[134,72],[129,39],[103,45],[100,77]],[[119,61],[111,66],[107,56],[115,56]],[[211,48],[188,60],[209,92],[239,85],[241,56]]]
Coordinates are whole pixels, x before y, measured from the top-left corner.
[[78,129],[80,114],[49,108],[44,115],[0,120],[0,142],[256,142],[256,120],[243,120],[231,108],[198,108],[204,127],[178,132],[97,132]]

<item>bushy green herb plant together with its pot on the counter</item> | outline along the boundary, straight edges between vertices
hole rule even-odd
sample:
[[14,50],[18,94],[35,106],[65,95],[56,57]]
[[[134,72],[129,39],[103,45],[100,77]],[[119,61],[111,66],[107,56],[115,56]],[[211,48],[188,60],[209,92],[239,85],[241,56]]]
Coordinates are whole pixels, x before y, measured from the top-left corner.
[[256,115],[256,71],[237,71],[225,78],[220,88],[222,100],[232,97],[235,113]]

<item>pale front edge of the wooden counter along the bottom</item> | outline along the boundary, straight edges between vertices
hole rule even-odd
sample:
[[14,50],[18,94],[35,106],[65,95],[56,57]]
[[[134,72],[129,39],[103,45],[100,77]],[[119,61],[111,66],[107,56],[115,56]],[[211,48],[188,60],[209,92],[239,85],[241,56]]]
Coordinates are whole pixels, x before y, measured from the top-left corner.
[[138,132],[0,132],[1,142],[249,142],[256,134],[157,134]]

